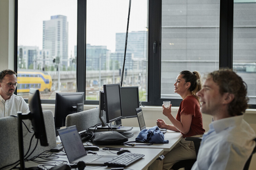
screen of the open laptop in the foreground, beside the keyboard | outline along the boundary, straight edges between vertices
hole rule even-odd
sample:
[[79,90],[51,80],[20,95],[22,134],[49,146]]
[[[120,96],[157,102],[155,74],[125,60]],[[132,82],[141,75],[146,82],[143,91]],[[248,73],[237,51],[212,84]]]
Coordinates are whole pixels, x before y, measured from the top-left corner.
[[81,141],[76,126],[70,126],[58,130],[62,144],[65,148],[69,163],[86,155],[84,145]]

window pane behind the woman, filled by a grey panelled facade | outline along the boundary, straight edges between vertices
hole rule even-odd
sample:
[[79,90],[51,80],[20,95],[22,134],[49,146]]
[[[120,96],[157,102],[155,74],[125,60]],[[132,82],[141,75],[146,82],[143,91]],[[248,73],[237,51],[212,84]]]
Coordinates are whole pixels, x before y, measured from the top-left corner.
[[219,0],[163,0],[161,24],[161,98],[181,99],[173,84],[182,70],[219,68]]

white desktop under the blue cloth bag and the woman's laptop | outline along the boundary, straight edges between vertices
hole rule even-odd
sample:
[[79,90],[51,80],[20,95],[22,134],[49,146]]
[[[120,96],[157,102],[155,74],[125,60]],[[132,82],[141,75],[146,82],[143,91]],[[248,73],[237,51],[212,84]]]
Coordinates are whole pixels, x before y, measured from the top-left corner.
[[[141,132],[139,127],[133,127],[133,129],[129,132],[133,132],[134,136],[131,138],[128,138],[128,141],[135,141],[135,138],[138,136],[138,134]],[[167,131],[165,134],[165,140],[169,140],[169,143],[161,143],[161,144],[152,144],[152,145],[136,145],[136,146],[125,146],[125,145],[106,145],[104,147],[135,147],[135,148],[155,148],[159,149],[162,148],[164,151],[170,151],[181,139],[182,134],[180,132],[174,132],[174,131]],[[92,142],[89,142],[92,144]],[[84,142],[84,145],[86,145],[86,142]],[[103,145],[101,145],[103,146]]]

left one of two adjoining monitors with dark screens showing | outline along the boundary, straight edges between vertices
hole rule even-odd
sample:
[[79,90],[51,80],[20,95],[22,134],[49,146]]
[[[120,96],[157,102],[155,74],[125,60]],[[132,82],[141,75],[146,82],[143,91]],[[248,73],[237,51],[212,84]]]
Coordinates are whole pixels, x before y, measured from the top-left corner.
[[103,85],[103,89],[104,89],[106,122],[110,123],[115,120],[121,119],[123,115],[122,115],[120,84],[105,84]]

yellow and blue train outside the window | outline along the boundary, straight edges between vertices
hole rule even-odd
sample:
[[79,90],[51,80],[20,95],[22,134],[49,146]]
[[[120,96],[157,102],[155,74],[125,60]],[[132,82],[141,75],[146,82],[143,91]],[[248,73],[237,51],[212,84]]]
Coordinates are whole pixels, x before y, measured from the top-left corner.
[[52,79],[50,75],[41,72],[18,71],[17,93],[29,92],[29,88],[39,89],[40,92],[51,91]]

